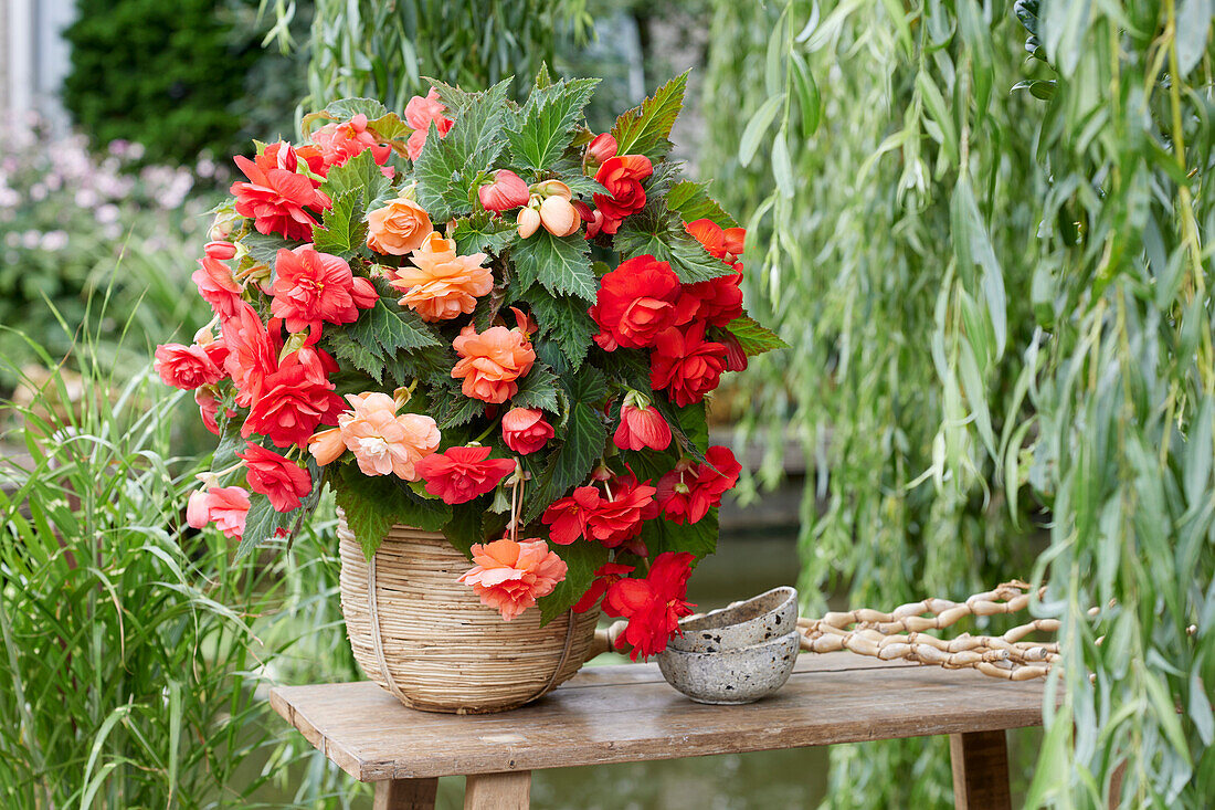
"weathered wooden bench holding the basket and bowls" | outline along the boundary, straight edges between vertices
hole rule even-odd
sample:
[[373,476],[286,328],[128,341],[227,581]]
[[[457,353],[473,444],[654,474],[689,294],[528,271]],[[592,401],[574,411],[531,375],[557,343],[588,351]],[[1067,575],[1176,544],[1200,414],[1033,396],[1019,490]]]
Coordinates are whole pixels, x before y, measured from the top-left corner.
[[375,783],[377,810],[433,808],[440,776],[467,776],[465,810],[527,808],[531,771],[949,735],[959,808],[1005,809],[1005,730],[1041,725],[1041,681],[803,653],[751,705],[701,705],[656,664],[593,666],[504,714],[406,709],[371,682],[283,686],[270,703],[326,756]]

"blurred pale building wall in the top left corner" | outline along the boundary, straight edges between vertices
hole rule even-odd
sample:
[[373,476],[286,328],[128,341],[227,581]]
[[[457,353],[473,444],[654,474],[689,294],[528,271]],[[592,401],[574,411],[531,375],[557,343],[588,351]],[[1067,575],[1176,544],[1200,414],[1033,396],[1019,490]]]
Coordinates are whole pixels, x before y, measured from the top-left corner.
[[67,129],[60,86],[70,49],[61,32],[75,18],[75,0],[0,0],[0,111],[36,112]]

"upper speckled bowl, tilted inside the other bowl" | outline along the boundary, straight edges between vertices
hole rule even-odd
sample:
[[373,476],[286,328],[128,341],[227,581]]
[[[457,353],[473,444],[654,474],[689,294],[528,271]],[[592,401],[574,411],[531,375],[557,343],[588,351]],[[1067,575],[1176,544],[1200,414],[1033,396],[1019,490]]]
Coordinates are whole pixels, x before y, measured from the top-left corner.
[[668,649],[712,653],[778,639],[797,628],[797,590],[774,587],[734,607],[684,619],[679,628],[683,636],[672,639]]

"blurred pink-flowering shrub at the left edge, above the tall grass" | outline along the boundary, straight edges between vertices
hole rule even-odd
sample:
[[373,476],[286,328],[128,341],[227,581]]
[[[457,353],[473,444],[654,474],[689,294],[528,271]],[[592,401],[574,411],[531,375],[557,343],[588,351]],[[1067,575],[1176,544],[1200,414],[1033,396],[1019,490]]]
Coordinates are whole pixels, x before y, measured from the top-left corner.
[[[92,309],[97,350],[119,365],[205,322],[205,304],[181,293],[208,224],[209,203],[191,193],[198,178],[225,174],[215,163],[136,171],[139,144],[112,141],[95,158],[83,137],[52,140],[36,120],[2,124],[0,139],[0,322],[58,359]],[[16,367],[36,360],[12,331],[0,332],[0,356]],[[12,383],[0,369],[0,388]]]

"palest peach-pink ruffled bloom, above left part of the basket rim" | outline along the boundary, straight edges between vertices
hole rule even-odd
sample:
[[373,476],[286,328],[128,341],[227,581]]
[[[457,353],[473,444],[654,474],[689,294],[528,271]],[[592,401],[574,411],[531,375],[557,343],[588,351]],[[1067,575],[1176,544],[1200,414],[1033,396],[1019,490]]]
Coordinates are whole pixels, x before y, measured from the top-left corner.
[[397,415],[392,398],[379,392],[349,394],[346,401],[352,410],[338,417],[338,427],[358,469],[364,476],[392,473],[418,480],[417,463],[439,449],[435,421],[420,414]]

